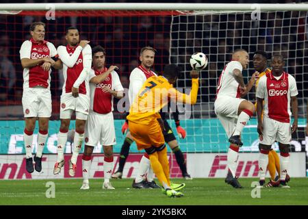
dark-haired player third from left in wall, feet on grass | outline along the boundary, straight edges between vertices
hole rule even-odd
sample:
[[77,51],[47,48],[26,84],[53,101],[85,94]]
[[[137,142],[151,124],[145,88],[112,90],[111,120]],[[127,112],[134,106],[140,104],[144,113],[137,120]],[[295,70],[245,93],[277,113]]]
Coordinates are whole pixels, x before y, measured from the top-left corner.
[[113,146],[116,144],[116,132],[114,129],[114,97],[123,97],[124,88],[120,83],[118,74],[114,71],[116,66],[105,67],[105,49],[101,46],[94,47],[93,68],[90,74],[82,74],[74,83],[78,88],[81,82],[88,77],[90,81],[90,113],[86,122],[85,148],[82,157],[82,176],[84,183],[81,190],[88,190],[91,156],[94,146],[100,142],[104,150],[104,183],[103,188],[114,190],[110,183],[112,168],[114,166]]

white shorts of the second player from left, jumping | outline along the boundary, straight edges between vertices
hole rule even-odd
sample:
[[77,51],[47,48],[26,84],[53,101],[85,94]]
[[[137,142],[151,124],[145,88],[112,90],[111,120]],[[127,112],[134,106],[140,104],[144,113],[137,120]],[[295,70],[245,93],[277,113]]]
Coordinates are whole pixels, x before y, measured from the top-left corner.
[[90,108],[90,97],[85,94],[79,94],[74,97],[72,93],[61,95],[60,118],[70,119],[73,112],[76,111],[76,118],[86,120]]

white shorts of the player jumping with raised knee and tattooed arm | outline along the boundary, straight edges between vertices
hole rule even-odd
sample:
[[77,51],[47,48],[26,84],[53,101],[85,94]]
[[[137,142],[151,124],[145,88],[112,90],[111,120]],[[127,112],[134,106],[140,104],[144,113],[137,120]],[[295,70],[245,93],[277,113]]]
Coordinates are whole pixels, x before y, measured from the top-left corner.
[[220,120],[224,131],[226,131],[228,138],[230,138],[235,130],[238,122],[238,107],[245,99],[220,96],[214,103],[215,114]]

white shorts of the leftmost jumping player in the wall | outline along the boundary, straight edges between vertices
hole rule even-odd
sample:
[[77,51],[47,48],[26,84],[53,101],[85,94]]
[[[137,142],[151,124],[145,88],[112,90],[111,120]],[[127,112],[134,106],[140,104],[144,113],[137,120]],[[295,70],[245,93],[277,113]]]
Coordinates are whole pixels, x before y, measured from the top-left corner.
[[27,117],[51,116],[51,92],[47,88],[27,88],[23,90],[23,114]]

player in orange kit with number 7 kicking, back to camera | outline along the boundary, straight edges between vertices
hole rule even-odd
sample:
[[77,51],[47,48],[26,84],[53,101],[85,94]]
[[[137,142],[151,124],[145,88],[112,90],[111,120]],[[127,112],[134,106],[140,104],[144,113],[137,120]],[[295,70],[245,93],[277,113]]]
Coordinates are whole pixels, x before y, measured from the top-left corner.
[[164,123],[159,110],[169,101],[193,105],[196,103],[198,94],[198,72],[196,70],[190,72],[192,77],[190,95],[182,94],[173,88],[172,84],[177,81],[180,72],[178,66],[169,64],[165,66],[163,76],[152,76],[146,79],[127,116],[129,130],[138,150],[144,149],[149,155],[153,172],[164,188],[164,193],[169,197],[183,196],[183,193],[170,188],[167,149],[162,134]]

